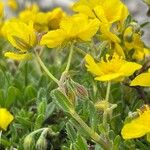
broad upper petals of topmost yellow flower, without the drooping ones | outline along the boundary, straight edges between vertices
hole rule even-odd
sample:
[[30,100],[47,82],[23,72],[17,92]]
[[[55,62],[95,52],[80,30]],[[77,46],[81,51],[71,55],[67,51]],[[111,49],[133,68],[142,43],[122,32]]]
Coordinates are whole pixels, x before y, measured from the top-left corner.
[[128,16],[127,7],[120,0],[80,0],[72,9],[89,17],[98,17],[101,22],[124,21]]

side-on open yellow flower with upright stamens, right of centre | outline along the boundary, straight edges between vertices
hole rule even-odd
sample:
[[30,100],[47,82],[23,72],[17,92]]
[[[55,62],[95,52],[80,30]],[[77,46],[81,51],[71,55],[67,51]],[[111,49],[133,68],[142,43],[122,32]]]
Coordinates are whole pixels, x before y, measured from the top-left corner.
[[117,54],[114,54],[112,59],[110,59],[109,55],[106,55],[105,59],[105,61],[103,58],[100,62],[96,63],[89,54],[85,56],[87,70],[96,76],[95,80],[121,81],[142,67],[137,63],[119,58]]

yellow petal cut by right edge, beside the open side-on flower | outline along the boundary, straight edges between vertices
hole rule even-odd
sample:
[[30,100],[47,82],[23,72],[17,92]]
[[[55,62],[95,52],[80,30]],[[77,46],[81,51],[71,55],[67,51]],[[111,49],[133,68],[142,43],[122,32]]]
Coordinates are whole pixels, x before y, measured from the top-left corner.
[[142,73],[132,80],[130,86],[150,86],[150,73]]

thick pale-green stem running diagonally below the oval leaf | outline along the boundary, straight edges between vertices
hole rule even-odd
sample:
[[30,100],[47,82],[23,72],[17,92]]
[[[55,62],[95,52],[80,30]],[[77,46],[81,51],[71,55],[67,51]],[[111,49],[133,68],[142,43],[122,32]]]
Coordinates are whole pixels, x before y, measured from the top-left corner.
[[70,114],[96,143],[100,144],[104,150],[109,150],[109,143],[100,138],[98,133],[91,129],[74,110],[70,110]]

